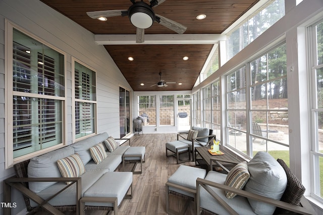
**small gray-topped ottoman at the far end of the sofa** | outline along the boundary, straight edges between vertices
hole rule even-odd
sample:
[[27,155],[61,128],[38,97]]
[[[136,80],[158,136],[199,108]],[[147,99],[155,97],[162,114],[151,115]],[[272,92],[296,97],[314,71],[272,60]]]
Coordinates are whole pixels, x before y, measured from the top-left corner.
[[[142,163],[145,162],[145,147],[129,147],[122,155],[123,170],[125,170],[125,163],[135,163],[132,172],[133,174],[142,173]],[[135,172],[137,163],[140,162],[140,171]]]

